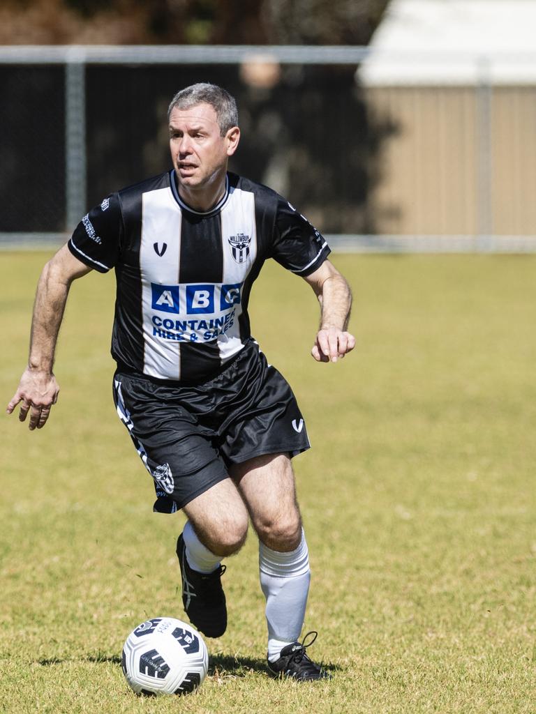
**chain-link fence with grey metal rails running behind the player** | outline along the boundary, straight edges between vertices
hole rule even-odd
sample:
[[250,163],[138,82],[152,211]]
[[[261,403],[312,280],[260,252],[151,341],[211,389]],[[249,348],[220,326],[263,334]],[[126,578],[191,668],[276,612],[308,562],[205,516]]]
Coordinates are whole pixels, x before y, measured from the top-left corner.
[[[460,151],[469,159],[455,164],[457,134],[435,132],[452,126],[452,102],[437,95],[432,111],[430,91],[404,98],[399,87],[392,96],[362,87],[356,70],[367,54],[290,46],[0,48],[0,244],[59,243],[103,196],[168,169],[169,100],[184,86],[212,81],[239,104],[242,140],[230,168],[283,193],[334,246],[535,250],[525,229],[531,216],[518,221],[515,236],[494,230],[494,222],[515,221],[494,221],[494,142],[504,139],[492,131],[492,86],[475,86],[469,99],[465,88],[456,105]],[[529,89],[525,123],[536,108]],[[505,136],[512,131],[505,125]],[[523,185],[533,195],[531,176]],[[417,221],[415,202],[428,205],[430,216],[422,219],[420,210]]]

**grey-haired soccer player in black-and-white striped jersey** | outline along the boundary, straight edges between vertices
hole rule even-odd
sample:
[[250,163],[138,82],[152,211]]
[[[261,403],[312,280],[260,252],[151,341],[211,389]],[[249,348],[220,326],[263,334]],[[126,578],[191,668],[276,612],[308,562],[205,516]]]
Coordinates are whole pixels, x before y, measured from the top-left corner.
[[[240,138],[227,91],[194,84],[169,106],[173,169],[112,193],[46,263],[36,293],[29,364],[7,407],[42,428],[58,398],[54,351],[71,282],[116,273],[114,399],[154,479],[154,510],[187,516],[177,541],[182,600],[208,637],[227,627],[222,559],[249,520],[259,538],[268,668],[329,677],[299,642],[309,554],[291,458],[309,448],[288,383],[249,328],[252,283],[274,258],[302,276],[321,306],[312,356],[354,348],[351,294],[320,233],[271,189],[227,171]],[[316,637],[316,633],[314,633]]]

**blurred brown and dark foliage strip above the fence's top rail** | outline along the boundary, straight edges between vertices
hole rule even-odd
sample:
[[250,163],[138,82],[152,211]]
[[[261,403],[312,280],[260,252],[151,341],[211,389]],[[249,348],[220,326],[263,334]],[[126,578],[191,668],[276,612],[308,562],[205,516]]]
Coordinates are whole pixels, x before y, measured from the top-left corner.
[[0,44],[366,45],[388,0],[3,0]]

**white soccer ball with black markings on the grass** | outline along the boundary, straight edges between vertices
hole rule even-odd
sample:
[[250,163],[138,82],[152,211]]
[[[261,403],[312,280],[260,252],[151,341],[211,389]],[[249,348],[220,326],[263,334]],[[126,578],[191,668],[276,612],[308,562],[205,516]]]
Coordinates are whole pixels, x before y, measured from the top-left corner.
[[209,653],[192,625],[175,618],[152,618],[126,638],[121,665],[137,694],[186,694],[207,675]]

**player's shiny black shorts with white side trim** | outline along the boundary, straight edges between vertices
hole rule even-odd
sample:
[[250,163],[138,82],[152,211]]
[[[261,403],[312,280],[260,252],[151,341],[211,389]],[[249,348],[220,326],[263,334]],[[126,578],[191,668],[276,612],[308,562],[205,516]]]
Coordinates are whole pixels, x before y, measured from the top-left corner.
[[254,341],[216,377],[174,385],[118,368],[114,401],[154,479],[154,511],[174,513],[254,456],[309,448],[296,398]]

